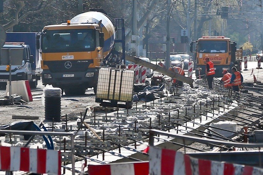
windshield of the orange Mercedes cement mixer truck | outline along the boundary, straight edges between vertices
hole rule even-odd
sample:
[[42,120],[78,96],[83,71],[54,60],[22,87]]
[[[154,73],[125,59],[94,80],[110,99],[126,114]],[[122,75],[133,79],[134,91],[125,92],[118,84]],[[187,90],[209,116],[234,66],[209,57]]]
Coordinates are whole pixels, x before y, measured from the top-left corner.
[[94,51],[96,34],[93,29],[47,30],[41,46],[44,53]]

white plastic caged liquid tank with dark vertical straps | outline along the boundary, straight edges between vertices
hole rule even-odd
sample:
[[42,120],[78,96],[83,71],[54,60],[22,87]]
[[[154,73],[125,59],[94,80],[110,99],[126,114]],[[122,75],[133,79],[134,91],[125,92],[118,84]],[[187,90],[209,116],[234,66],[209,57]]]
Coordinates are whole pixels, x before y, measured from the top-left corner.
[[103,67],[99,70],[96,98],[131,101],[133,85],[134,71]]

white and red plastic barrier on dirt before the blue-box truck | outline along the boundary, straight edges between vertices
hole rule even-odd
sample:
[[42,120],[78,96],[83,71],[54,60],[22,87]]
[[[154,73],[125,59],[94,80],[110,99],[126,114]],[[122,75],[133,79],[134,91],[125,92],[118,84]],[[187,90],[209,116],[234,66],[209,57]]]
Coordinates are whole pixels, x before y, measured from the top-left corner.
[[[23,100],[26,102],[33,101],[28,80],[11,81],[11,93],[22,96]],[[5,96],[9,96],[9,81],[7,82]]]

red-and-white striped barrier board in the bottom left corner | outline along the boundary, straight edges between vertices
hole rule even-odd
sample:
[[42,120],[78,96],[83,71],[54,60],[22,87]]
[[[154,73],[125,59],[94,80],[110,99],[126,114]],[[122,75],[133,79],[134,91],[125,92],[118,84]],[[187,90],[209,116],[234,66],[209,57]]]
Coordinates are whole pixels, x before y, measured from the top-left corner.
[[61,152],[0,146],[0,170],[61,174]]

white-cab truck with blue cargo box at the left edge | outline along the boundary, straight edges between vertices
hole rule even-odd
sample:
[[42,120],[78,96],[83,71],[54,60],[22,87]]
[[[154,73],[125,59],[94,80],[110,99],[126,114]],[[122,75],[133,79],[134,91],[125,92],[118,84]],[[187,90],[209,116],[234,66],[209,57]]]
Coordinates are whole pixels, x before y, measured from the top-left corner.
[[[0,66],[0,85],[6,85],[9,81],[9,71],[6,65],[11,55],[11,80],[29,80],[31,88],[36,88],[37,80],[40,80],[41,55],[36,49],[35,32],[7,32],[6,43],[2,47],[2,59],[6,63]],[[32,55],[32,56],[31,56]]]

